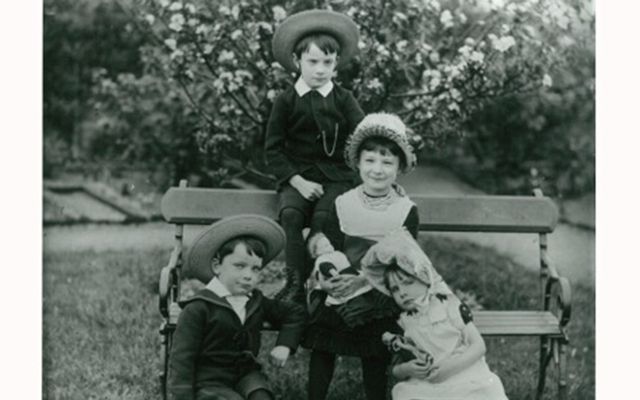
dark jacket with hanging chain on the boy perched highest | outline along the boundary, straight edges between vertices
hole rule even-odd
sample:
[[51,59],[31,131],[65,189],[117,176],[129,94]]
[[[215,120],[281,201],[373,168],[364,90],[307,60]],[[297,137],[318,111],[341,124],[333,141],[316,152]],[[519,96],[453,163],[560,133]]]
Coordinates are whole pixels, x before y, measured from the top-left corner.
[[[327,97],[315,90],[300,97],[294,87],[287,88],[273,103],[265,139],[266,161],[278,185],[314,167],[328,181],[353,181],[344,148],[362,118],[353,94],[337,84]],[[325,149],[331,152],[336,133],[335,149],[328,156]]]

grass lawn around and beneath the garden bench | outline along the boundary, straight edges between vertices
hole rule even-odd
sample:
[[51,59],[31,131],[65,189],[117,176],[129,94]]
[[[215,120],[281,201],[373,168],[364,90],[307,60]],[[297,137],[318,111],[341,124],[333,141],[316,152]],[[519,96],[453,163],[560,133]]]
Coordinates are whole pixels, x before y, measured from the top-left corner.
[[[538,275],[470,243],[422,238],[444,279],[486,309],[538,308]],[[157,281],[169,251],[69,252],[44,257],[43,398],[158,399],[161,318]],[[269,269],[273,281],[277,267]],[[276,271],[274,273],[274,271]],[[273,290],[268,284],[265,291]],[[573,285],[569,398],[595,397],[595,293]],[[465,296],[466,297],[466,296]],[[264,357],[274,341],[263,338]],[[487,361],[510,399],[533,398],[538,368],[536,339],[487,339]],[[266,366],[282,399],[305,399],[308,352],[284,370]],[[548,370],[545,398],[555,398],[556,369]],[[332,399],[364,399],[359,360],[342,358]]]

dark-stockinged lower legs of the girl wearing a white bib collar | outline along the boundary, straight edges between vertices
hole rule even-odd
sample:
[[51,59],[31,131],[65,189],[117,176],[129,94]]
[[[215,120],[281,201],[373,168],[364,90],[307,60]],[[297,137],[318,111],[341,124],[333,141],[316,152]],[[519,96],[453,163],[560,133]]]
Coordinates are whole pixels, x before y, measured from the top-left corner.
[[[388,359],[361,358],[362,381],[367,400],[387,398]],[[336,354],[314,350],[309,361],[309,400],[325,400],[335,370]]]

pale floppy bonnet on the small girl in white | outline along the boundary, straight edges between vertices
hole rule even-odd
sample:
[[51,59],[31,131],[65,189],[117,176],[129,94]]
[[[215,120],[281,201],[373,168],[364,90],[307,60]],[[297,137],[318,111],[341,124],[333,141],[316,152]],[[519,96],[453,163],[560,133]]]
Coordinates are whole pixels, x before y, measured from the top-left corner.
[[391,296],[384,283],[384,272],[392,264],[430,286],[430,293],[450,294],[451,290],[433,268],[420,245],[404,228],[397,229],[369,248],[361,261],[362,274],[371,286]]

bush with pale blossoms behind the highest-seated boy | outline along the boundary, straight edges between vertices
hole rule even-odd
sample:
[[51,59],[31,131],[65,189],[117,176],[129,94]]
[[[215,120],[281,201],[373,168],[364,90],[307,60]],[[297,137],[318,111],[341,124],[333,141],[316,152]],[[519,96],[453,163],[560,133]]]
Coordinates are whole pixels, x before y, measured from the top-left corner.
[[[207,171],[218,174],[225,159],[261,167],[272,100],[295,79],[274,62],[271,38],[294,12],[329,8],[352,17],[361,32],[360,55],[337,81],[354,91],[365,112],[401,115],[431,148],[472,131],[469,122],[496,99],[540,96],[555,88],[559,71],[583,44],[579,39],[591,38],[594,19],[591,4],[578,0],[135,3],[131,11],[149,37],[142,48],[145,75],[118,81],[101,77],[96,104],[112,115],[142,116],[147,112],[142,99],[164,104],[162,93],[174,96],[171,109],[149,107],[149,113],[189,118],[156,133],[192,135]],[[126,89],[149,80],[157,92]],[[123,93],[131,97],[109,101]],[[129,122],[130,135],[147,134],[139,125],[144,119]]]

